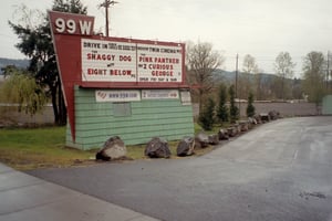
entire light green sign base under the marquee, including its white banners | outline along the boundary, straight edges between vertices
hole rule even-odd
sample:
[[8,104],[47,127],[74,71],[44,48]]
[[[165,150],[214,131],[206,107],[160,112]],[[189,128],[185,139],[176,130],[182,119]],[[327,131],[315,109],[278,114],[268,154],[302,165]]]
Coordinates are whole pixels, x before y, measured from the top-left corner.
[[189,91],[75,86],[74,107],[74,141],[70,125],[66,129],[66,146],[70,147],[97,148],[115,135],[126,145],[146,144],[155,136],[176,140],[194,135]]

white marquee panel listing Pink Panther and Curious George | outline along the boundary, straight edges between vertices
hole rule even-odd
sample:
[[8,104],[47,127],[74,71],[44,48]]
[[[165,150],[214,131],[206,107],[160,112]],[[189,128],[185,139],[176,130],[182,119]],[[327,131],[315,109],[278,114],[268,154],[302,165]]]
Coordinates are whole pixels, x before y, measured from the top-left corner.
[[181,48],[138,44],[139,82],[181,82]]

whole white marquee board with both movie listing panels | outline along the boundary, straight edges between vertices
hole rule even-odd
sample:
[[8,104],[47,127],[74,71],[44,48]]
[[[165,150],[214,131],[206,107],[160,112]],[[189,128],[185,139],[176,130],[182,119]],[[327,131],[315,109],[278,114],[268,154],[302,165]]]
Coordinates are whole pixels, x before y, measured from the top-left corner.
[[181,45],[81,40],[83,82],[181,83]]

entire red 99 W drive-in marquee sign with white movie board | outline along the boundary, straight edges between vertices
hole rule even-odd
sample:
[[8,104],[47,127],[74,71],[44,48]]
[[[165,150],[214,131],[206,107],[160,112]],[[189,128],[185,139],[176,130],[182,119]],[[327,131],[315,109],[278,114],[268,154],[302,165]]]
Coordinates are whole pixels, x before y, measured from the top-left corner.
[[75,139],[74,86],[187,88],[185,44],[94,34],[94,18],[49,11],[69,120]]

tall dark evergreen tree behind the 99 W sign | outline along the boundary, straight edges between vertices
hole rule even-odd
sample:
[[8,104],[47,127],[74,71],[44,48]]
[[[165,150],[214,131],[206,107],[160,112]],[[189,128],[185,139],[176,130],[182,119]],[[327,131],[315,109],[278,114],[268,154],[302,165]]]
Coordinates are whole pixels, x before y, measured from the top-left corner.
[[[86,14],[86,7],[81,0],[54,0],[52,10]],[[25,6],[18,9],[17,13],[21,14],[19,22],[9,21],[9,25],[20,39],[15,46],[30,59],[29,73],[33,73],[35,82],[44,87],[46,95],[51,97],[54,123],[65,125],[66,108],[48,17],[43,12],[29,10]]]

